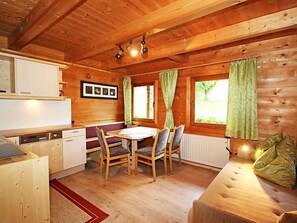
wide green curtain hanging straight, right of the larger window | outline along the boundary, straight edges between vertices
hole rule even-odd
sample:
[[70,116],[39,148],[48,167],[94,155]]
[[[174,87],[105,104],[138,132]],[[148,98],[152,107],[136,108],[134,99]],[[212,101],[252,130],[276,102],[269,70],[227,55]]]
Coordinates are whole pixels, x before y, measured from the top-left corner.
[[258,139],[257,60],[231,63],[226,136]]

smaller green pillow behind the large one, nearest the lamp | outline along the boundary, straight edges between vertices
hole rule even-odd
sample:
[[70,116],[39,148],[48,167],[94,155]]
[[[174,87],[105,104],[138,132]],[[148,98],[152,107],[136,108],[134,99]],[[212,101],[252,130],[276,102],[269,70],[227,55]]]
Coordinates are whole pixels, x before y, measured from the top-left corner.
[[264,141],[262,141],[253,151],[250,153],[250,158],[256,161],[260,156],[262,156],[270,147],[274,146],[283,139],[283,133],[277,133]]

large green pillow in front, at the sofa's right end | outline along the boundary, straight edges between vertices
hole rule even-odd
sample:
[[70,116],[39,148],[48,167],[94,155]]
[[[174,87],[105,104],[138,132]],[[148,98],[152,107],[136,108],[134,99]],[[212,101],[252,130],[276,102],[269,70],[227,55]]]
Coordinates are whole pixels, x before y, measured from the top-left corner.
[[286,136],[256,160],[253,166],[254,173],[273,183],[292,189],[296,183],[296,153],[293,140]]

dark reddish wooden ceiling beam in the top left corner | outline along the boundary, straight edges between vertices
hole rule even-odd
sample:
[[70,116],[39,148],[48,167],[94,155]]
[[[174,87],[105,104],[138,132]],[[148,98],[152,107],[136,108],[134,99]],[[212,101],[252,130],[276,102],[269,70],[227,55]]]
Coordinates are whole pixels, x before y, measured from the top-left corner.
[[19,50],[63,19],[86,0],[40,0],[9,38],[9,48]]

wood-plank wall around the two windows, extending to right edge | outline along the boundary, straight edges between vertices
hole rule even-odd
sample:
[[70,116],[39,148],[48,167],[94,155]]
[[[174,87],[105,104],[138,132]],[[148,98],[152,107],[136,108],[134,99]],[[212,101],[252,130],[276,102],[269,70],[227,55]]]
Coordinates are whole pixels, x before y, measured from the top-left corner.
[[[193,69],[179,71],[173,113],[175,125],[187,123],[189,101],[187,89],[189,79],[195,76],[215,75],[229,72],[230,61],[246,57],[257,57],[257,94],[260,140],[277,132],[284,132],[297,139],[297,35],[296,31],[284,37],[258,39],[236,46],[224,46],[204,50],[190,55],[190,64],[201,65]],[[230,45],[230,44],[229,44]],[[226,62],[228,61],[228,62]],[[207,65],[209,64],[209,65]],[[158,80],[159,75],[135,76],[133,83]],[[165,105],[159,84],[158,123],[162,127],[165,120]],[[187,132],[200,133],[197,127],[187,127]],[[220,131],[209,129],[210,135],[222,135]],[[233,147],[255,142],[232,140]],[[236,150],[236,148],[234,148]]]

